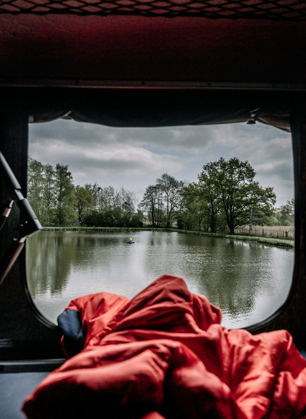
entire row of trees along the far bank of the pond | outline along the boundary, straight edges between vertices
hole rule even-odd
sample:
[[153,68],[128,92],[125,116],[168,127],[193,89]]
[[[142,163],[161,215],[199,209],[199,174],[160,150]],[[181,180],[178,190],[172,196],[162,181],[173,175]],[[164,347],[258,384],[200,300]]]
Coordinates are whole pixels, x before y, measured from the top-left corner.
[[[67,165],[28,158],[28,200],[44,226],[172,227],[233,234],[243,225],[294,223],[294,199],[275,208],[273,187],[254,181],[248,161],[231,158],[207,163],[198,181],[168,173],[147,186],[141,202],[123,186],[74,185]],[[253,214],[253,220],[252,220]],[[256,215],[256,217],[255,217]]]

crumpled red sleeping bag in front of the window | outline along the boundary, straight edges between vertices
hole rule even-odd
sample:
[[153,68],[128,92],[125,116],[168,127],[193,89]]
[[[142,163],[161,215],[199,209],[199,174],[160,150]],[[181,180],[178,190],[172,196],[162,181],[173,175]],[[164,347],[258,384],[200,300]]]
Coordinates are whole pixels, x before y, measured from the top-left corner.
[[85,347],[28,396],[28,419],[306,418],[306,361],[291,335],[228,331],[182,278],[68,308],[82,315]]

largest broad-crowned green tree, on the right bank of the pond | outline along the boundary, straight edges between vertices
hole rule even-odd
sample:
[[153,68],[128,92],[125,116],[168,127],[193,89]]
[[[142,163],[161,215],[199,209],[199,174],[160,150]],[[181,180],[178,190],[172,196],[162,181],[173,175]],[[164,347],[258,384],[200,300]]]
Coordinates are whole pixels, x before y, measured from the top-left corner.
[[221,157],[203,166],[198,176],[202,188],[205,190],[207,186],[217,196],[216,202],[219,201],[220,209],[224,211],[230,234],[234,234],[235,228],[248,224],[250,209],[268,217],[273,214],[276,202],[273,188],[262,188],[254,181],[255,174],[248,161],[236,157],[226,161]]

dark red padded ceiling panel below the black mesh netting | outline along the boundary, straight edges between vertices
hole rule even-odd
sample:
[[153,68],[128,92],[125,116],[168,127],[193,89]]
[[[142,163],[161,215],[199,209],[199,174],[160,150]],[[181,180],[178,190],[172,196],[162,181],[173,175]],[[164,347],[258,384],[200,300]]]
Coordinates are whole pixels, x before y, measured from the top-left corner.
[[303,91],[305,24],[0,13],[0,85]]

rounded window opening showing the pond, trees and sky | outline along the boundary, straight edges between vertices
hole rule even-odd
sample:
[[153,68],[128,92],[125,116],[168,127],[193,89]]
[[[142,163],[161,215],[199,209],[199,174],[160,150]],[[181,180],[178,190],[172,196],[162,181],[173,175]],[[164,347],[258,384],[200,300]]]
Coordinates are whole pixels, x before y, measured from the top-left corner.
[[165,273],[219,306],[228,328],[264,321],[285,303],[294,264],[290,133],[245,122],[57,119],[29,124],[28,154],[27,197],[44,227],[26,243],[28,289],[54,323],[75,297],[131,299]]

